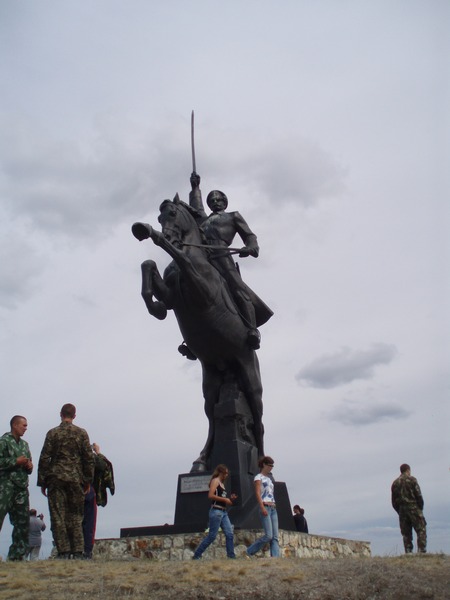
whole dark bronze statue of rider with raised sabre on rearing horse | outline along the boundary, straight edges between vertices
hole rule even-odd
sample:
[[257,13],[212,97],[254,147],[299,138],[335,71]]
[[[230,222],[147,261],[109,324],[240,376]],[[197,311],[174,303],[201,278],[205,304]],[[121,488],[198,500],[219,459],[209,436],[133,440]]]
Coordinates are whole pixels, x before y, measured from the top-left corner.
[[[200,176],[195,170],[193,119],[192,113],[189,204],[178,194],[173,201],[164,200],[158,218],[162,232],[146,223],[132,227],[139,241],[151,238],[172,258],[163,277],[155,261],[142,264],[142,297],[157,319],[165,319],[168,310],[174,311],[184,340],[179,351],[187,358],[198,358],[202,365],[209,428],[192,471],[210,468],[211,455],[218,452],[221,456],[224,440],[238,442],[238,453],[245,454],[245,461],[254,466],[256,457],[264,455],[257,327],[273,313],[242,281],[232,259],[233,254],[257,257],[256,235],[238,212],[225,211],[228,199],[223,192],[210,192],[207,204],[212,213],[208,216],[204,210]],[[244,243],[239,249],[231,247],[236,234]],[[230,419],[234,423],[232,433],[228,429]],[[245,467],[245,472],[251,468]]]

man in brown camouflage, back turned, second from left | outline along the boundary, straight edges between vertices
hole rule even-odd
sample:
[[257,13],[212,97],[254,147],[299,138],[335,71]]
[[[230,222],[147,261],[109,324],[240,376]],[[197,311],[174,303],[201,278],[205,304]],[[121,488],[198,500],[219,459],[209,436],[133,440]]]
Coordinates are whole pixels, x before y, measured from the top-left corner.
[[94,476],[89,436],[73,424],[76,409],[64,404],[61,424],[47,433],[38,465],[38,486],[48,497],[58,558],[83,558],[84,494]]

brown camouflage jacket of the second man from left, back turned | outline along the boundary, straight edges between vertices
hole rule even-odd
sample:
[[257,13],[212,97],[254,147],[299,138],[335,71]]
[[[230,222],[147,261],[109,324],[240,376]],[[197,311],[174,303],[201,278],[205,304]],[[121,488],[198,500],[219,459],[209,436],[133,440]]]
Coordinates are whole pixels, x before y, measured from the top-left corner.
[[87,432],[65,421],[50,429],[39,457],[38,486],[48,487],[55,480],[86,485],[93,477],[94,454]]

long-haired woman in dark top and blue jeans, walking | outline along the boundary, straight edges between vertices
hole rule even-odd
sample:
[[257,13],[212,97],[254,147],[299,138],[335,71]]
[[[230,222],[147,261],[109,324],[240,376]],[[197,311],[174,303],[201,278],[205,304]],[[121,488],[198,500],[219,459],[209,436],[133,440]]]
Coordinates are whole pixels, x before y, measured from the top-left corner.
[[210,546],[217,537],[219,528],[222,528],[225,534],[225,545],[228,558],[236,558],[234,553],[233,526],[228,517],[227,509],[233,505],[236,500],[236,494],[231,494],[227,498],[225,489],[225,481],[228,478],[229,471],[226,465],[218,465],[214,469],[214,473],[209,482],[208,498],[211,500],[211,508],[209,509],[209,532],[208,535],[197,546],[194,560],[201,558],[203,552]]

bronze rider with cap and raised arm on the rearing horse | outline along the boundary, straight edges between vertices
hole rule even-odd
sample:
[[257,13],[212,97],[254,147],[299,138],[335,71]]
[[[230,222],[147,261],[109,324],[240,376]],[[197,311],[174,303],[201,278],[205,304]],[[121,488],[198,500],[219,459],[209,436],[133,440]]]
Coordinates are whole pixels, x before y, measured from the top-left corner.
[[[189,194],[189,204],[196,208],[202,216],[200,228],[202,229],[208,245],[221,246],[222,250],[212,251],[210,262],[220,272],[222,277],[228,283],[231,294],[238,306],[242,320],[248,327],[247,342],[250,348],[257,350],[260,345],[261,336],[257,330],[257,318],[255,306],[252,302],[251,290],[242,281],[240,273],[227,248],[232,244],[234,237],[238,234],[244,242],[239,256],[258,257],[259,247],[256,235],[251,231],[243,217],[235,212],[225,212],[228,206],[228,199],[223,192],[214,190],[206,198],[206,203],[212,210],[207,216],[203,208],[202,195],[200,191],[200,175],[192,173],[191,175],[192,191]],[[268,309],[268,307],[266,307]],[[268,309],[270,311],[270,309]],[[270,315],[267,318],[270,318]],[[264,322],[267,320],[265,318]]]

